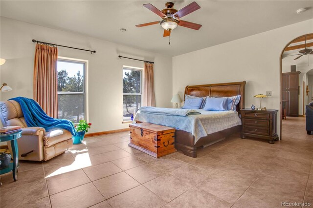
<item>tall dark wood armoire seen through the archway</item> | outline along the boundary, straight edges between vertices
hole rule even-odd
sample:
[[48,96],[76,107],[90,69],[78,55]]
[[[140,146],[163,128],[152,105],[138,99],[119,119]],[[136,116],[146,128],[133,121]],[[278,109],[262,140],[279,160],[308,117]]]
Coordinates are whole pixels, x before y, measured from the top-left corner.
[[287,116],[299,116],[299,74],[299,71],[283,73],[282,101]]

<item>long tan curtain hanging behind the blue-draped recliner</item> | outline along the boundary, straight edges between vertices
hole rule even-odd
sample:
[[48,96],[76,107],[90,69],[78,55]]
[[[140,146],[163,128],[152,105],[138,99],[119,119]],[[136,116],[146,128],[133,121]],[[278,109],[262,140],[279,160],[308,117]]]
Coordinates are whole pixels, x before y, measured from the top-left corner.
[[57,61],[57,47],[36,44],[34,100],[53,118],[58,117]]

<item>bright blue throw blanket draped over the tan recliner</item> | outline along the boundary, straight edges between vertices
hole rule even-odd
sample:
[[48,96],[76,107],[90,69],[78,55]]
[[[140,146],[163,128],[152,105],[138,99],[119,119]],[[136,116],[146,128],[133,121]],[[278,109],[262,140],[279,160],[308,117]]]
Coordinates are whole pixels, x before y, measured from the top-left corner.
[[49,117],[33,99],[16,97],[9,100],[16,101],[21,105],[25,122],[28,127],[39,126],[45,128],[46,131],[55,128],[63,128],[69,131],[72,135],[76,135],[74,125],[71,121]]

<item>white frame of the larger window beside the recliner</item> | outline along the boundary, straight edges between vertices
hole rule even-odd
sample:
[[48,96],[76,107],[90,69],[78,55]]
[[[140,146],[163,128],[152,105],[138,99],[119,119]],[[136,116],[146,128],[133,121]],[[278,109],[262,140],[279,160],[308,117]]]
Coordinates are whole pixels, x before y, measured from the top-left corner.
[[[69,63],[83,63],[84,69],[83,69],[83,92],[59,92],[57,91],[58,95],[83,95],[84,96],[84,120],[88,123],[88,102],[87,102],[87,74],[88,74],[88,60],[81,60],[81,59],[73,59],[73,58],[67,58],[67,57],[58,57],[57,62],[69,62]],[[58,105],[59,108],[59,105]],[[59,109],[58,109],[59,110]],[[74,123],[76,124],[76,123]]]

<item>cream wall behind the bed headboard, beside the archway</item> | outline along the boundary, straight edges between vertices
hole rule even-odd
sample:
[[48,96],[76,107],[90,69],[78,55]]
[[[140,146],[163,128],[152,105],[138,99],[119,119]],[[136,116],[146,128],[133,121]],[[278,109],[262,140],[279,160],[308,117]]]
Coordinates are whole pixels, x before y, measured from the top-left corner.
[[[173,94],[183,96],[186,85],[246,80],[246,107],[259,105],[254,95],[272,91],[262,103],[279,109],[281,52],[292,39],[312,32],[313,20],[303,21],[173,57]],[[279,121],[277,128],[279,133]]]

